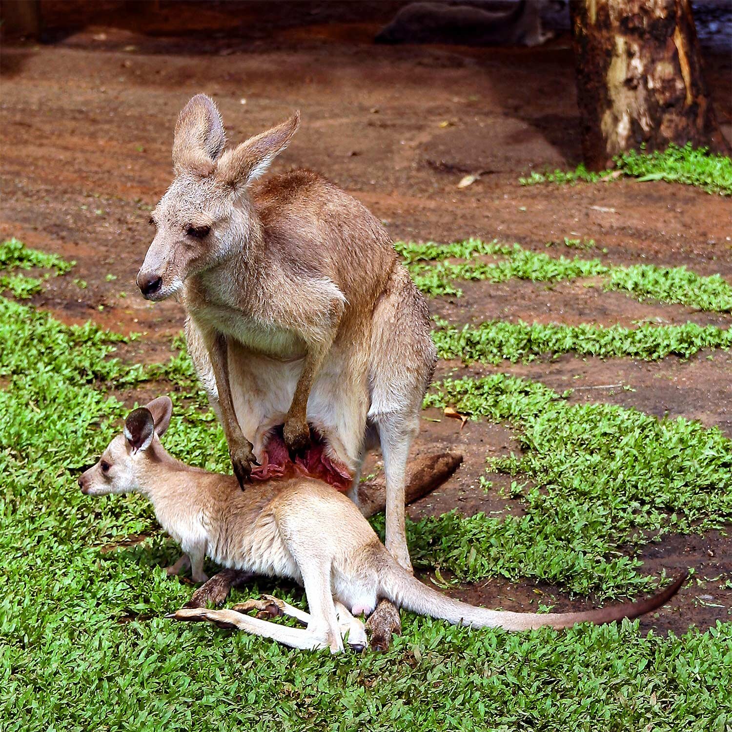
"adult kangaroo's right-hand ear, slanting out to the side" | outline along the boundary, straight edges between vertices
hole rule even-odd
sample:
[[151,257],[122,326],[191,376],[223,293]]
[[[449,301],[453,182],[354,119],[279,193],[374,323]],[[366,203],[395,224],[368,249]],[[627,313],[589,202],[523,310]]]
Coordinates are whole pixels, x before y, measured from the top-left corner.
[[287,122],[227,150],[217,165],[217,178],[230,185],[247,185],[255,181],[288,146],[299,126],[300,113],[295,112]]

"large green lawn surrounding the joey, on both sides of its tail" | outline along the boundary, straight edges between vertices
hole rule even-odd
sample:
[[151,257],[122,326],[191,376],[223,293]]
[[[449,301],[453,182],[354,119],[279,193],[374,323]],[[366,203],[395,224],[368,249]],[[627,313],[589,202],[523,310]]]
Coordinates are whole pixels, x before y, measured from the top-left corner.
[[[126,409],[109,391],[165,377],[160,390],[172,384],[176,403],[166,446],[219,470],[228,454],[187,356],[130,368],[114,358],[120,340],[0,297],[3,730],[725,732],[732,722],[730,624],[678,638],[643,635],[637,621],[509,634],[403,613],[387,653],[332,657],[164,619],[192,591],[162,569],[178,548],[139,496],[92,499],[75,483],[119,430]],[[495,468],[541,482],[546,498],[515,490],[533,526],[454,514],[412,524],[423,566],[635,594],[651,580],[621,553],[621,538],[638,545],[639,531],[728,516],[730,446],[717,430],[632,411],[575,413],[550,389],[507,377],[446,382],[430,396],[448,401],[520,425],[525,458]],[[569,508],[555,513],[560,495]],[[102,551],[135,534],[148,538]],[[265,589],[290,597],[279,583],[236,597]]]

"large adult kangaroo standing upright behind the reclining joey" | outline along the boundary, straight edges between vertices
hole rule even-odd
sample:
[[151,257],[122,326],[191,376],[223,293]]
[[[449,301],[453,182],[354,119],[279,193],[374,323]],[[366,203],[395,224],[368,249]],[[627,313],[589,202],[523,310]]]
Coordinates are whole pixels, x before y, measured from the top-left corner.
[[242,487],[294,460],[357,504],[365,451],[381,444],[386,547],[411,569],[404,481],[436,360],[427,305],[351,195],[306,170],[255,184],[298,126],[295,113],[224,152],[214,102],[193,97],[138,286],[149,300],[182,299]]

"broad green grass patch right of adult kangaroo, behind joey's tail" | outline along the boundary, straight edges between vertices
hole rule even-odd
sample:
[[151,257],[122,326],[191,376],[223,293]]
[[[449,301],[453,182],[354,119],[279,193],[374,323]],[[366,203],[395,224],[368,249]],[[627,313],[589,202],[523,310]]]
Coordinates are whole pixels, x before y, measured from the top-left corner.
[[422,520],[413,559],[468,580],[498,572],[617,596],[648,586],[629,548],[732,523],[732,441],[720,430],[565,396],[504,374],[435,386],[425,406],[516,427],[523,456],[490,467],[532,487],[515,489],[518,518]]

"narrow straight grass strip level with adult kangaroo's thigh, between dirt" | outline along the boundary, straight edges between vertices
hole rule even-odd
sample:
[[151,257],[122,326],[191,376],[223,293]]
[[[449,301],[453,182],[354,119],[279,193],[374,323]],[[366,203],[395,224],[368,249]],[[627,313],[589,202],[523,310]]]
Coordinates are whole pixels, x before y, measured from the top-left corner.
[[487,321],[476,327],[444,324],[433,331],[432,337],[441,359],[494,365],[504,360],[529,362],[537,356],[567,353],[603,359],[630,356],[657,361],[670,355],[689,358],[703,348],[727,349],[732,346],[732,331],[729,329],[694,323],[606,328],[591,324],[570,326]]

